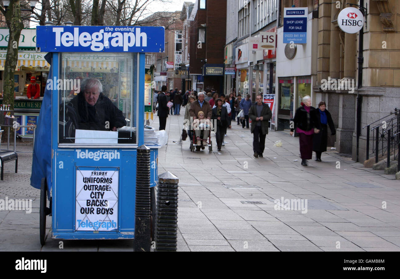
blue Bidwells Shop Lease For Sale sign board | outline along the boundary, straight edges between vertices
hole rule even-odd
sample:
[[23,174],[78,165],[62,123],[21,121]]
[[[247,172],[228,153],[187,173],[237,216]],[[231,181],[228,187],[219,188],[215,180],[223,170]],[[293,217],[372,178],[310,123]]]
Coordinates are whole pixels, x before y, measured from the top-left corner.
[[284,8],[283,43],[307,43],[308,8]]

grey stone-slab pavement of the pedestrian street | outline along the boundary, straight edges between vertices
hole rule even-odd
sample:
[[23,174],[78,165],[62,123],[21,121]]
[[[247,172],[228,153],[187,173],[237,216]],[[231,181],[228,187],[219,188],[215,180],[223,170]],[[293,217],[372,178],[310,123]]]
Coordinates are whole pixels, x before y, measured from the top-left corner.
[[[212,136],[213,153],[192,153],[189,142],[180,141],[184,110],[168,117],[168,145],[158,157],[159,173],[170,171],[180,180],[178,251],[400,251],[400,184],[394,175],[365,169],[336,151],[303,167],[295,162],[298,138],[288,131],[270,132],[264,158],[254,158],[250,129],[235,122],[222,151]],[[158,128],[158,118],[151,124]],[[274,147],[278,140],[282,147]],[[133,241],[108,240],[64,241],[59,249],[50,232],[41,247],[31,158],[19,155],[18,174],[13,163],[6,164],[0,181],[0,199],[33,199],[31,214],[0,211],[0,251],[132,251]]]

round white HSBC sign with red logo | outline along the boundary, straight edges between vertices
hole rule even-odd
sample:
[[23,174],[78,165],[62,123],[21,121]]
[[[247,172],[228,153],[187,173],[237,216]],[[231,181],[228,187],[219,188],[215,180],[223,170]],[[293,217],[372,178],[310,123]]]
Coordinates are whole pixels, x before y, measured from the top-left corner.
[[338,26],[345,33],[357,33],[364,26],[364,15],[356,8],[345,8],[338,15]]

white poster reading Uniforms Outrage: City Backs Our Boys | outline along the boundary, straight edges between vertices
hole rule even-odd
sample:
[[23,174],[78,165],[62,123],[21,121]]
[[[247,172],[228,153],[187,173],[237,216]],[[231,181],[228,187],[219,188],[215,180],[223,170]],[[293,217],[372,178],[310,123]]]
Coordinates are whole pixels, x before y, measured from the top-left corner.
[[114,170],[76,170],[76,231],[118,229],[118,177]]

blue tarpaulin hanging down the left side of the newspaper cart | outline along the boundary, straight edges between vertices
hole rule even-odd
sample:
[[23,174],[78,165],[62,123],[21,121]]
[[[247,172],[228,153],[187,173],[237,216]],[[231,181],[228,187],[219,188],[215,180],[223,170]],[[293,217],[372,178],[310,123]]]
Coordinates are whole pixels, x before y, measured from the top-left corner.
[[[49,52],[44,58],[50,64],[48,79],[51,80],[53,78],[52,54]],[[32,174],[30,177],[30,185],[36,189],[40,189],[42,178],[47,178],[48,197],[50,197],[51,189],[51,102],[51,90],[48,90],[46,86],[35,132],[36,141],[33,147]]]

